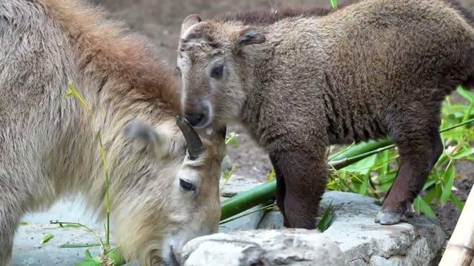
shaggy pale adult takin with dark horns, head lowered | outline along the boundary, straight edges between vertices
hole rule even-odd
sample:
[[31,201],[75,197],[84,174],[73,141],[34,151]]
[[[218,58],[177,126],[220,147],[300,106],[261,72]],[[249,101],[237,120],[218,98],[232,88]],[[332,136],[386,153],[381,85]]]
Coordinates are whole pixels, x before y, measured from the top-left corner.
[[[66,99],[69,81],[90,110]],[[1,266],[25,212],[83,194],[104,217],[98,132],[127,260],[168,263],[173,248],[217,231],[224,129],[201,141],[186,121],[176,125],[174,74],[143,37],[80,1],[1,1],[0,94]]]

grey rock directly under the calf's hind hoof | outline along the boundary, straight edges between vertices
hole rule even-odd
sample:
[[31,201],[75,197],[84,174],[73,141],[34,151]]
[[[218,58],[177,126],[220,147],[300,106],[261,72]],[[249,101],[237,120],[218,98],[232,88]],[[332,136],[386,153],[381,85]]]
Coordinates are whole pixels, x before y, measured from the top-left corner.
[[374,222],[380,206],[358,194],[328,191],[334,222],[323,234],[336,241],[348,265],[432,265],[446,236],[436,220],[415,215],[408,222],[384,226]]

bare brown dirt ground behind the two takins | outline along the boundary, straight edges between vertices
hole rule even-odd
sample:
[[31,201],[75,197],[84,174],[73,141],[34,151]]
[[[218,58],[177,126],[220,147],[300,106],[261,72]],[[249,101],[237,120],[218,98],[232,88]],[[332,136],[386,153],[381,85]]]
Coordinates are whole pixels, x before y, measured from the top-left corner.
[[[466,1],[474,6],[474,0]],[[253,8],[274,8],[277,6],[328,6],[329,0],[93,0],[109,12],[110,17],[122,20],[130,29],[141,32],[149,37],[157,46],[159,53],[171,68],[176,63],[176,46],[181,22],[186,15],[198,13],[202,18],[228,11],[245,11]],[[339,0],[339,3],[344,1]],[[235,131],[238,146],[229,148],[229,156],[238,165],[237,175],[265,180],[271,165],[267,154],[237,125],[229,126],[229,132]],[[463,162],[456,165],[461,174],[456,180],[455,193],[466,200],[474,181],[474,164]],[[437,208],[437,215],[447,234],[451,234],[460,212],[451,203]]]

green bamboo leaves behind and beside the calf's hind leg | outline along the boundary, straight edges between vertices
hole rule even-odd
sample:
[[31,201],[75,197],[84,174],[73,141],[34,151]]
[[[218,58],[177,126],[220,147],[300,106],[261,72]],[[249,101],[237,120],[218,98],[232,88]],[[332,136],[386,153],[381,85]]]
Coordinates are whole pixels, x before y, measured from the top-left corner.
[[[457,91],[468,103],[451,103],[449,97],[444,101],[441,136],[445,149],[413,204],[417,213],[431,217],[435,216],[433,204],[444,205],[452,201],[457,208],[463,208],[462,201],[452,193],[454,180],[458,177],[454,165],[458,160],[474,160],[474,148],[470,146],[470,141],[474,139],[474,123],[470,121],[474,117],[474,94],[461,87]],[[343,156],[356,148],[360,148],[360,145],[343,148]],[[339,155],[331,158],[341,159]],[[339,170],[333,169],[327,188],[381,198],[393,184],[399,163],[396,148],[390,146],[357,163]]]

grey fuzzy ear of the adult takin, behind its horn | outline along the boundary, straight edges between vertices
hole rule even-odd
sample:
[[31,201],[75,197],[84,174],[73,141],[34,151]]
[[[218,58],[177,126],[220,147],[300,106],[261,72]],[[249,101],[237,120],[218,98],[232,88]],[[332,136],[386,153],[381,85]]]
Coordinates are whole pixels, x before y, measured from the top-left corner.
[[146,141],[147,145],[152,147],[155,155],[159,158],[166,154],[167,148],[164,146],[164,142],[166,142],[165,138],[159,136],[152,126],[144,122],[137,120],[130,122],[125,127],[124,134],[133,139]]

